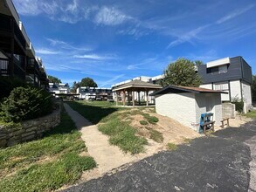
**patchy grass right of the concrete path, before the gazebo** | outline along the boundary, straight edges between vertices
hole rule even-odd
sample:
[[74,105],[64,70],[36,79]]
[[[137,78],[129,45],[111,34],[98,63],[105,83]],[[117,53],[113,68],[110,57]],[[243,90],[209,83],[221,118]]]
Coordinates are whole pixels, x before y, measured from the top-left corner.
[[[99,130],[103,134],[107,134],[109,142],[120,147],[124,152],[138,154],[144,151],[144,146],[148,141],[138,134],[138,130],[132,127],[132,115],[141,114],[145,120],[151,124],[156,124],[158,119],[150,116],[148,113],[143,113],[142,108],[131,110],[131,108],[115,107],[114,103],[105,101],[73,101],[67,102],[74,110],[83,115],[87,120],[94,124],[99,123]],[[131,119],[127,119],[127,118]],[[151,131],[154,139],[161,141],[161,136]],[[159,139],[160,138],[160,139]]]

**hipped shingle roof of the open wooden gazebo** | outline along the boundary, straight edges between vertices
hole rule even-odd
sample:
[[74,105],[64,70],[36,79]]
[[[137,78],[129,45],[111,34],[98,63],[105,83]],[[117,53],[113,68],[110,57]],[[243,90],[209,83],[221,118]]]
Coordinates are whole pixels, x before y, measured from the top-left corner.
[[135,87],[135,88],[151,88],[151,89],[161,89],[162,88],[162,86],[158,86],[158,85],[155,85],[155,84],[152,84],[152,83],[147,83],[147,82],[144,82],[142,80],[135,79],[135,80],[132,80],[132,81],[126,83],[126,84],[115,87],[113,89],[113,91],[119,91],[119,90],[122,90],[122,89],[132,88],[132,87]]

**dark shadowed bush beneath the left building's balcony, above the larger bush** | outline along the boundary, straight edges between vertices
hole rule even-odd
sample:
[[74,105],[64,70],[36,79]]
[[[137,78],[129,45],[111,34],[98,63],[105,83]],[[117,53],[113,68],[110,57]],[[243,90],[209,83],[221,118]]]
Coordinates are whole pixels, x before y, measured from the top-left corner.
[[10,79],[10,77],[0,77],[0,100],[8,97],[10,92],[19,86],[26,86],[24,80],[17,78]]

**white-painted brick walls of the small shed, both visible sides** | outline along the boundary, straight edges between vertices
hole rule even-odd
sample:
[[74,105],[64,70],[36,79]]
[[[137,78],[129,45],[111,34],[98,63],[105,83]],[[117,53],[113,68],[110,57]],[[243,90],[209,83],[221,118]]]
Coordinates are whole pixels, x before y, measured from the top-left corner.
[[[206,111],[207,108],[211,108],[211,111]],[[216,125],[220,125],[222,105],[218,93],[168,93],[156,96],[156,113],[177,120],[195,131],[199,127],[193,124],[199,123],[201,113],[210,112],[214,113]]]

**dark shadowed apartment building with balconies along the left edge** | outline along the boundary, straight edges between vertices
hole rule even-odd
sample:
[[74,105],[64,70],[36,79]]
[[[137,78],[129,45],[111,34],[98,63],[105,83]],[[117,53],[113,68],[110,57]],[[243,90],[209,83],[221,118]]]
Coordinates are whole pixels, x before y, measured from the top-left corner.
[[12,1],[1,0],[0,7],[0,76],[16,77],[48,89],[42,59],[36,57]]

